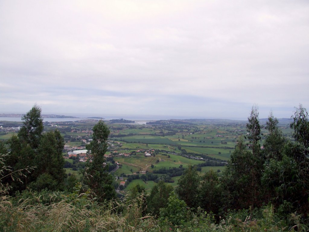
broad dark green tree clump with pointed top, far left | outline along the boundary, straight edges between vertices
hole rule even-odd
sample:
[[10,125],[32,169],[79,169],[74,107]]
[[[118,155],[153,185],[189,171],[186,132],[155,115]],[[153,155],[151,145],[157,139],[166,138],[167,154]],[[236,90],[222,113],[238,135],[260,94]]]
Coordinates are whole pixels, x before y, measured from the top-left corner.
[[[23,117],[23,126],[17,136],[8,140],[10,152],[6,162],[13,171],[27,167],[36,167],[22,178],[22,183],[13,183],[12,192],[31,187],[37,191],[43,188],[61,189],[65,178],[62,150],[64,140],[59,131],[43,133],[43,118],[41,108],[34,105]],[[42,176],[43,175],[43,176]]]

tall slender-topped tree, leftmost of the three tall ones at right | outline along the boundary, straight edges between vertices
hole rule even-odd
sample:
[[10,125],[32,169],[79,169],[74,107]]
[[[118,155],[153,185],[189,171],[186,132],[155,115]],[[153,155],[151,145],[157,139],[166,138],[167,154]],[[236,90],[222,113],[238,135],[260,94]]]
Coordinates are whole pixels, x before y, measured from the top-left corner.
[[235,151],[222,175],[226,208],[254,208],[263,204],[261,176],[265,159],[261,155],[261,127],[256,105],[252,106],[246,127],[248,133],[245,138],[249,143],[245,144],[242,137],[238,138]]

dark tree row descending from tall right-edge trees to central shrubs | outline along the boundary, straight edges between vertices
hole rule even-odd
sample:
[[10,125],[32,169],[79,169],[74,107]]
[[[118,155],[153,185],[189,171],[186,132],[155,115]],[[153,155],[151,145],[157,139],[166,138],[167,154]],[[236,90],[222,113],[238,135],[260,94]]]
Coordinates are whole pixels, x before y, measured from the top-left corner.
[[[195,212],[200,208],[205,212],[213,213],[218,222],[221,217],[226,217],[228,212],[233,210],[234,212],[250,210],[251,217],[263,217],[259,209],[270,206],[276,214],[278,223],[284,222],[290,229],[295,223],[308,226],[309,121],[307,111],[300,105],[291,117],[290,127],[294,130],[292,133],[294,141],[287,140],[282,135],[277,127],[278,120],[272,113],[265,126],[268,133],[261,134],[258,115],[257,107],[252,107],[246,126],[248,134],[245,139],[248,143],[245,143],[242,137],[238,138],[235,151],[227,161],[221,178],[218,178],[213,170],[200,177],[197,167],[189,165],[187,169],[181,170],[182,175],[174,191],[167,190],[166,183],[153,187],[150,196],[146,197],[148,212],[157,216],[170,217],[170,220],[174,220],[177,224],[180,223],[180,217],[171,215],[177,214],[175,211],[177,208],[188,207]],[[261,147],[262,138],[265,142]],[[174,169],[159,171],[173,176],[171,173],[178,171],[177,168]],[[135,191],[141,188],[139,186]],[[169,193],[162,195],[161,191]],[[173,209],[168,209],[170,204],[176,205]],[[300,227],[298,229],[300,230]]]

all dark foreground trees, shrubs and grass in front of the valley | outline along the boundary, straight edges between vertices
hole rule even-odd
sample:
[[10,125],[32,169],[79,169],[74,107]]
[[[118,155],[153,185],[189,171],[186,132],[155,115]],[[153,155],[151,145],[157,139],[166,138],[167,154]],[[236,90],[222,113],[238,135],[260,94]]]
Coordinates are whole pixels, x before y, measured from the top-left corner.
[[[104,165],[110,131],[102,121],[93,128],[89,159],[79,180],[74,175],[65,178],[60,155],[64,141],[58,131],[43,133],[40,109],[35,106],[24,119],[18,135],[0,144],[3,231],[308,230],[309,121],[301,105],[290,123],[293,141],[282,135],[272,114],[261,133],[253,107],[247,137],[237,138],[221,177],[215,170],[197,171],[205,161],[179,165],[173,169],[174,174],[181,172],[174,188],[166,183],[174,176],[172,169],[154,166],[142,177],[157,178],[160,170],[166,174],[158,176],[165,175],[152,184],[148,195],[140,183],[129,185],[129,195],[116,193]],[[176,151],[156,157],[165,153],[170,156],[166,160],[174,160],[177,154],[188,155],[181,148]]]

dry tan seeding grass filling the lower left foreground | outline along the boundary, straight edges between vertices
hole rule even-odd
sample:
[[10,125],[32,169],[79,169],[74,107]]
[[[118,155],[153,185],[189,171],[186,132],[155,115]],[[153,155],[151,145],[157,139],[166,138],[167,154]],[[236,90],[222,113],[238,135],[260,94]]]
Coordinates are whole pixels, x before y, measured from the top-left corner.
[[[143,196],[127,201],[97,204],[87,194],[63,195],[61,192],[0,200],[1,231],[148,231],[157,228],[153,217],[142,217],[139,202]],[[48,202],[48,203],[46,203]],[[118,210],[121,208],[121,210]]]

